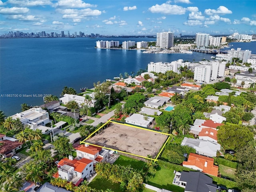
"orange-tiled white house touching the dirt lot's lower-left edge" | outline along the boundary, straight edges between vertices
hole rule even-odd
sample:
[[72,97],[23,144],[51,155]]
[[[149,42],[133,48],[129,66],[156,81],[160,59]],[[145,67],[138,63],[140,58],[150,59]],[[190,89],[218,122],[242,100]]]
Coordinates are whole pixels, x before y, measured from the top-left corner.
[[76,148],[76,156],[78,159],[90,159],[95,165],[97,162],[105,162],[109,157],[109,151],[104,148],[84,144]]

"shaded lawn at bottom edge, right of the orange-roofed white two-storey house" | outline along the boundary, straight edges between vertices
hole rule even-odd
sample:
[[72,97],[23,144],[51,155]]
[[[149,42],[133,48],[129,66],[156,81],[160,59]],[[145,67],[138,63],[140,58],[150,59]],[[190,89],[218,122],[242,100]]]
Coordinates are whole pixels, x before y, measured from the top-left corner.
[[102,189],[105,191],[106,189],[112,189],[114,192],[122,192],[119,188],[119,183],[114,183],[112,180],[102,178],[100,175],[97,175],[88,186],[96,190]]

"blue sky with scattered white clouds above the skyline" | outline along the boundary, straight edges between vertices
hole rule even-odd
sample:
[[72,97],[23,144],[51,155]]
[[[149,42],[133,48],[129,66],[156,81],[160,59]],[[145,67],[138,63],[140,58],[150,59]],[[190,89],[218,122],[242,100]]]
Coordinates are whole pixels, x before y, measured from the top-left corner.
[[255,0],[0,0],[9,31],[100,35],[256,34]]

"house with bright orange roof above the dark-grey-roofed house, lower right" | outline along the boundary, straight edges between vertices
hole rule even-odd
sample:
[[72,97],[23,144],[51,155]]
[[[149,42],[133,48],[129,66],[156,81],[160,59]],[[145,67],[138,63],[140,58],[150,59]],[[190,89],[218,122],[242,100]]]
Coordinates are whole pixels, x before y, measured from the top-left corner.
[[184,167],[200,170],[200,172],[213,176],[218,176],[218,166],[214,165],[213,158],[190,153],[188,161],[184,161],[182,164]]

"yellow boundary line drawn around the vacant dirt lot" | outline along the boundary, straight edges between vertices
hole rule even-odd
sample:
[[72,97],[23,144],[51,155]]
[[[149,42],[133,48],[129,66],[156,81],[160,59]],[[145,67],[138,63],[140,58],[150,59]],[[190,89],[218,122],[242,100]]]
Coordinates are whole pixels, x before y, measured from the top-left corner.
[[[164,135],[168,135],[168,138],[167,138],[166,142],[164,143],[164,145],[162,146],[160,152],[158,153],[158,155],[156,156],[155,159],[153,159],[153,158],[148,158],[148,157],[144,157],[144,156],[140,156],[140,155],[137,155],[137,154],[132,154],[132,153],[124,152],[124,151],[120,151],[120,150],[116,150],[116,149],[112,149],[112,148],[108,148],[108,147],[104,147],[104,146],[99,146],[99,145],[91,144],[91,143],[88,143],[88,142],[85,142],[88,138],[90,138],[94,133],[96,133],[96,132],[97,132],[98,130],[100,130],[102,127],[106,126],[106,124],[108,124],[109,122],[111,122],[111,123],[116,123],[116,124],[121,124],[121,125],[125,125],[125,126],[130,126],[130,127],[138,128],[138,129],[142,129],[142,130],[152,131],[152,132],[156,132],[156,133],[160,133],[160,134],[164,134]],[[144,158],[144,159],[153,160],[153,161],[156,162],[156,161],[158,161],[157,158],[160,156],[162,150],[164,149],[164,146],[166,145],[166,143],[167,143],[168,140],[170,139],[170,136],[171,136],[171,134],[168,134],[168,133],[162,133],[162,132],[158,132],[158,131],[155,131],[155,130],[150,130],[150,129],[146,129],[146,128],[137,127],[137,126],[134,126],[134,125],[129,125],[129,124],[123,124],[123,123],[113,122],[113,121],[111,121],[111,119],[110,119],[110,120],[108,120],[106,123],[104,123],[102,126],[100,126],[100,128],[98,128],[97,130],[95,130],[94,132],[92,132],[92,133],[91,133],[87,138],[85,138],[83,141],[80,141],[80,144],[88,144],[88,145],[92,145],[92,146],[96,146],[96,147],[100,147],[100,148],[104,148],[104,149],[108,149],[108,150],[113,150],[113,151],[117,151],[117,152],[120,152],[120,153],[132,155],[132,156],[136,156],[136,157],[140,157],[140,158]]]

